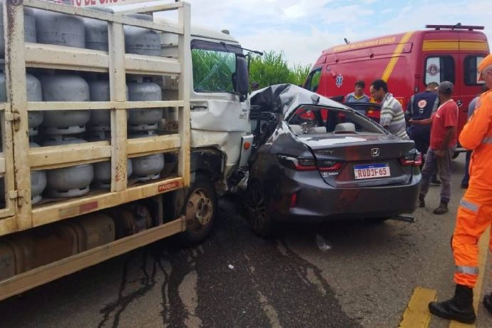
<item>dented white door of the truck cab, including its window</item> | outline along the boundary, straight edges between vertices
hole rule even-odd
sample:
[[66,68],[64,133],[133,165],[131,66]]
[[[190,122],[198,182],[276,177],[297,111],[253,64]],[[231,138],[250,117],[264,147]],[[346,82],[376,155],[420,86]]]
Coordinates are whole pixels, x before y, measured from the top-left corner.
[[242,136],[251,132],[249,110],[235,92],[238,45],[191,41],[193,86],[190,95],[191,145],[216,147],[227,155],[225,172],[240,157]]

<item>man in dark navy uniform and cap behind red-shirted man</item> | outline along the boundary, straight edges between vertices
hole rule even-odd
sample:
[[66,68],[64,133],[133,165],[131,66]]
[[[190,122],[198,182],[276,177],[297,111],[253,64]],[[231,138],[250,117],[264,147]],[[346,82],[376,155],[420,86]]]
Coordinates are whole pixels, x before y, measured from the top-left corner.
[[[430,118],[439,106],[439,97],[436,92],[438,87],[438,83],[431,82],[427,84],[425,91],[411,96],[409,105],[406,108],[406,115],[412,120]],[[414,140],[416,150],[419,150],[422,154],[422,165],[420,166],[420,169],[422,169],[424,168],[425,155],[431,142],[431,127],[430,125],[410,125],[407,133],[410,139]],[[432,175],[431,183],[441,184],[436,173]]]

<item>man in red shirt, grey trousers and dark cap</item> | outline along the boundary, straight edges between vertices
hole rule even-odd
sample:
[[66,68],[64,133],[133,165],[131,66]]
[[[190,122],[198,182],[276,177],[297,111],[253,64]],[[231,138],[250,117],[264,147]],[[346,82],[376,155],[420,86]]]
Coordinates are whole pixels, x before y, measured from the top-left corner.
[[438,87],[441,106],[437,108],[431,118],[421,121],[411,120],[411,125],[431,126],[431,144],[426,153],[426,162],[422,169],[422,185],[419,195],[419,207],[425,207],[425,198],[429,191],[432,175],[439,172],[441,178],[441,203],[436,207],[434,214],[448,212],[449,198],[451,197],[451,160],[456,149],[456,126],[458,126],[458,106],[451,98],[453,83],[444,81]]

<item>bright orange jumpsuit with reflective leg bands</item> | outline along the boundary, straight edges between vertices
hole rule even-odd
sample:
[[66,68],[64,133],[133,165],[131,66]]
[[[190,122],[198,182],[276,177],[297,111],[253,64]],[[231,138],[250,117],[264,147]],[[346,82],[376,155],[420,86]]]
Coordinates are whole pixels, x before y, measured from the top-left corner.
[[[479,98],[459,141],[473,153],[470,182],[458,207],[453,233],[454,281],[474,287],[478,277],[478,238],[492,223],[492,91]],[[492,251],[492,239],[489,248]]]

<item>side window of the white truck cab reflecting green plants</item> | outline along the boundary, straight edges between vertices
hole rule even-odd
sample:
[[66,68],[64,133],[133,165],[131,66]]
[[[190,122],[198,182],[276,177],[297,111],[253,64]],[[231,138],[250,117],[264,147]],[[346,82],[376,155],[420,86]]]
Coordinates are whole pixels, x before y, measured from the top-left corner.
[[193,90],[234,93],[237,48],[224,43],[192,41]]

